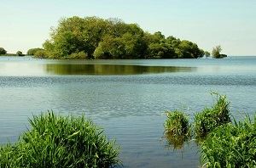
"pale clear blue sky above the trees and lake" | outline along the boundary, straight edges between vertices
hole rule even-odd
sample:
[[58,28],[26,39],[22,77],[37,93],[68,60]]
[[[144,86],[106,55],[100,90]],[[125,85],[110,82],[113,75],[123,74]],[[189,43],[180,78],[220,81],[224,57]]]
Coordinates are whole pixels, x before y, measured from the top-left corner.
[[256,0],[0,0],[0,48],[41,48],[63,17],[98,16],[137,23],[195,42],[209,52],[256,55]]

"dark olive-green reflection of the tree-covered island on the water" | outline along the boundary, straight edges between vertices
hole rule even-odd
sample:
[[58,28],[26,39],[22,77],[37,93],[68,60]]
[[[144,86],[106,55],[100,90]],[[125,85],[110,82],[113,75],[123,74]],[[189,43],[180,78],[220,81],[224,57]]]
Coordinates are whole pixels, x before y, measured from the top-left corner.
[[44,70],[52,75],[139,75],[165,72],[195,71],[194,67],[142,66],[131,64],[45,64]]

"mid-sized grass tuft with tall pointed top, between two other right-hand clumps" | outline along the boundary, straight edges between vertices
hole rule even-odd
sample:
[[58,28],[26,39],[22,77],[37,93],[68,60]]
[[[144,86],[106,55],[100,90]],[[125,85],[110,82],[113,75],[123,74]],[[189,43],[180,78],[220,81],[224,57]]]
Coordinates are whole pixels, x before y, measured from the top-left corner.
[[195,114],[195,137],[204,138],[216,127],[229,123],[230,109],[225,96],[213,93],[217,96],[217,102],[212,108],[204,109],[201,113]]

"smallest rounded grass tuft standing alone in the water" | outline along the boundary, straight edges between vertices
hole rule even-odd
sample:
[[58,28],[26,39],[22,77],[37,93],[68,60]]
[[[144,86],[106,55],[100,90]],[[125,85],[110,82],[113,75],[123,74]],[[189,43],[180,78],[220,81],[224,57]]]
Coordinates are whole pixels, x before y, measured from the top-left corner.
[[182,111],[167,111],[165,123],[165,137],[174,149],[183,148],[183,143],[189,140],[190,125],[188,116]]

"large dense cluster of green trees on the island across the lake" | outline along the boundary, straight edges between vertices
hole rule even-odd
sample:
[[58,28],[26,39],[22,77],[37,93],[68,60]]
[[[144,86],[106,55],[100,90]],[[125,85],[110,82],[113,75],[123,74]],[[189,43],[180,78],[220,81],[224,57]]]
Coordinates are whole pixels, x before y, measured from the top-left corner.
[[60,20],[43,47],[40,54],[56,59],[194,59],[204,55],[194,42],[165,37],[160,31],[150,34],[118,19],[77,16]]

